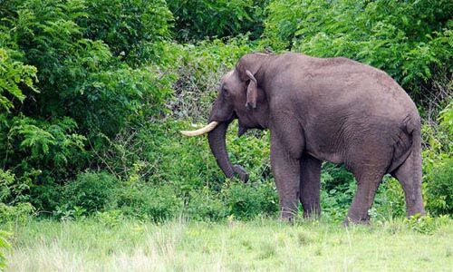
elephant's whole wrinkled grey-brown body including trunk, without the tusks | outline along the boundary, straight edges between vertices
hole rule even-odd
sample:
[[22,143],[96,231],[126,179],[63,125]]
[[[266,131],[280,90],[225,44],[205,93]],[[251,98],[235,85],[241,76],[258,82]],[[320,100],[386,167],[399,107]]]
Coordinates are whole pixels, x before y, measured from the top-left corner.
[[400,181],[407,215],[424,214],[421,198],[420,119],[414,102],[389,75],[346,58],[250,53],[222,78],[209,121],[211,151],[226,177],[246,181],[226,152],[228,124],[271,131],[271,165],[282,219],[302,202],[318,215],[323,160],[343,163],[358,188],[345,224],[369,221],[376,189],[390,173]]

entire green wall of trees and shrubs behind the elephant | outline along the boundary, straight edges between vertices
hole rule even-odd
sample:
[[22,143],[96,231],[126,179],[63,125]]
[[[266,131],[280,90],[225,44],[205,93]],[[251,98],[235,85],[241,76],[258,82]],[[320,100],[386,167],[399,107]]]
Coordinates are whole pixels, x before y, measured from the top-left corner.
[[[423,119],[427,210],[451,216],[452,13],[448,0],[0,0],[0,221],[275,217],[268,132],[228,134],[248,184],[224,177],[206,139],[178,133],[206,123],[220,76],[256,51],[389,73]],[[325,163],[322,187],[323,219],[337,222],[353,176]],[[404,213],[386,177],[371,217]]]

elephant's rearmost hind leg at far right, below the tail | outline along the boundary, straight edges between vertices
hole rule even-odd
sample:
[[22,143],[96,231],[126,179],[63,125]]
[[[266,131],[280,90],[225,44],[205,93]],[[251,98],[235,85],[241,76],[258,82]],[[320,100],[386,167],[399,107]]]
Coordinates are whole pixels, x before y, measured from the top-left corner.
[[391,172],[404,190],[406,197],[406,215],[425,214],[421,197],[421,156],[412,152],[399,168]]

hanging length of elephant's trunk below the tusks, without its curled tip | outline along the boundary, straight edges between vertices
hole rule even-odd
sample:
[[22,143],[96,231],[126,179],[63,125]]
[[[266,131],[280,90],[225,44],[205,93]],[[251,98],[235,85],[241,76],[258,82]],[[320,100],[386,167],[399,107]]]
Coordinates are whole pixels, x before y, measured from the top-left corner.
[[228,125],[229,121],[220,122],[216,129],[209,131],[207,139],[209,141],[209,147],[217,160],[218,166],[223,170],[226,178],[232,178],[235,174],[235,170],[228,158],[228,153],[226,152],[226,130],[228,129]]

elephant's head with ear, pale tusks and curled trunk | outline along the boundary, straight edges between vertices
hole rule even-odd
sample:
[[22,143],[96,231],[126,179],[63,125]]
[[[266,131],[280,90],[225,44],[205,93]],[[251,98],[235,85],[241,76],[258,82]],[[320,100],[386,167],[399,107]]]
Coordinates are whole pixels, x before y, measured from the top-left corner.
[[197,131],[181,131],[187,136],[208,133],[209,147],[227,178],[237,174],[239,179],[245,182],[248,180],[246,170],[233,165],[228,158],[225,140],[230,122],[237,118],[238,136],[248,129],[267,128],[268,104],[257,74],[270,56],[266,53],[252,53],[242,57],[236,68],[222,77],[207,126]]

